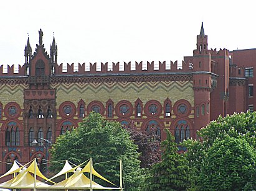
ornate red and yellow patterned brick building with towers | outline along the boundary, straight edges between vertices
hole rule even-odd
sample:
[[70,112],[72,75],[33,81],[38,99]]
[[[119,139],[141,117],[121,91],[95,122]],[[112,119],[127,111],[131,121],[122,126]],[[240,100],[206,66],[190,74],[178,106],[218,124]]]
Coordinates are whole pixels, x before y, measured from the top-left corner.
[[[92,110],[123,125],[131,121],[138,130],[157,125],[164,140],[168,128],[179,143],[197,138],[196,131],[219,115],[254,110],[256,49],[209,50],[204,28],[196,38],[193,56],[178,62],[152,61],[57,64],[53,38],[50,55],[42,43],[32,54],[27,39],[25,61],[0,66],[0,161],[21,163],[45,159],[44,143],[32,146],[35,137],[52,142],[70,127],[77,127]],[[10,166],[0,163],[0,175]]]

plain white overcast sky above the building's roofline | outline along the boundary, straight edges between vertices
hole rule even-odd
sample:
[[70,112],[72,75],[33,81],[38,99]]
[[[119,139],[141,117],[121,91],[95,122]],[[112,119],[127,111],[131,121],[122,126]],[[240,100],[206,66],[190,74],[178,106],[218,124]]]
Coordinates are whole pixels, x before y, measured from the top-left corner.
[[256,48],[255,1],[2,1],[0,64],[24,64],[38,30],[58,63],[164,61],[192,56],[201,22],[209,48]]

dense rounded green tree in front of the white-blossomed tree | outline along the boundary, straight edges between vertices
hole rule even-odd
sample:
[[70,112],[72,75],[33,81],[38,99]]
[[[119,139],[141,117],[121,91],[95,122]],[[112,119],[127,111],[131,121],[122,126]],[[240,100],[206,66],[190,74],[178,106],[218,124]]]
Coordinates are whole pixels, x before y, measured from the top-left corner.
[[199,190],[243,190],[253,185],[255,159],[255,150],[245,139],[217,139],[202,162]]

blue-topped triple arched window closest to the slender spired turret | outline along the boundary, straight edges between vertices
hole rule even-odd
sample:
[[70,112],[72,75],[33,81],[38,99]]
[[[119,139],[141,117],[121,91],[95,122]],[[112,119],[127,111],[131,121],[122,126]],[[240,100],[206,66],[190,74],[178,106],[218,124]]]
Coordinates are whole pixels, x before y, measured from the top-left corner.
[[190,138],[189,125],[185,120],[179,120],[175,127],[175,142],[179,144],[188,138]]

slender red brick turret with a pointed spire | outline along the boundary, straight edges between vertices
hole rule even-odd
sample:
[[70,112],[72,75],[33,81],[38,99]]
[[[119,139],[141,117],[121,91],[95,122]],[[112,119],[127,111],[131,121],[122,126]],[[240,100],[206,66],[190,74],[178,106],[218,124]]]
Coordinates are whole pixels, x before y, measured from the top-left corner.
[[208,38],[204,33],[203,23],[197,35],[196,50],[193,52],[194,64],[194,127],[200,130],[210,122],[211,94],[211,51],[207,50]]

